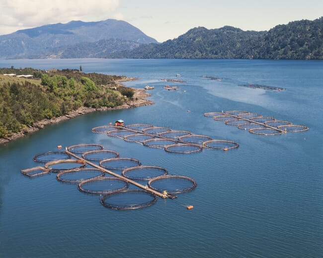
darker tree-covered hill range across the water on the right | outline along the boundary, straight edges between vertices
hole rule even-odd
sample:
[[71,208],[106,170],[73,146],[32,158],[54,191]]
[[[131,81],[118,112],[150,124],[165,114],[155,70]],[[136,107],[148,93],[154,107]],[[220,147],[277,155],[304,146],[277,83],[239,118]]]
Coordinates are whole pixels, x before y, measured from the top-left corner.
[[230,26],[211,30],[198,27],[162,44],[141,45],[105,57],[323,59],[323,17],[262,32]]

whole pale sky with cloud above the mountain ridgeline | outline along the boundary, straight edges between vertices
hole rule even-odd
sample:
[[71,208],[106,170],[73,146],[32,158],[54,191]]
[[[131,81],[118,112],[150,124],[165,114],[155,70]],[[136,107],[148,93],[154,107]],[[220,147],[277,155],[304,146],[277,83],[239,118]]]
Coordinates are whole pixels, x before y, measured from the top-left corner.
[[71,20],[124,20],[159,42],[225,25],[269,30],[323,16],[323,0],[0,0],[0,35]]

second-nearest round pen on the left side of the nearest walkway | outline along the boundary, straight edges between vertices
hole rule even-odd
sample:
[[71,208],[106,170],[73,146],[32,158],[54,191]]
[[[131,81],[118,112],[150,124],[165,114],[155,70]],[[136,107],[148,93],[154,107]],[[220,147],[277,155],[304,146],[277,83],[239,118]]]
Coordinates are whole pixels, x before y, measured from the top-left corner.
[[78,189],[86,194],[102,195],[126,190],[129,183],[116,177],[99,177],[82,181]]

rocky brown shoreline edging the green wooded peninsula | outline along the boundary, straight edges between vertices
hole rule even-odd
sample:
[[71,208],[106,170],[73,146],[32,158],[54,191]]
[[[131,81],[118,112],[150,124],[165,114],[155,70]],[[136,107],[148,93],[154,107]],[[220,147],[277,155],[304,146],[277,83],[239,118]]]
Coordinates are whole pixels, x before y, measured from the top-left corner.
[[[116,81],[118,85],[122,85],[121,82],[125,81],[132,81],[132,80],[137,80],[136,78],[128,78],[128,79],[122,79]],[[18,133],[13,133],[9,137],[6,138],[0,138],[0,145],[6,144],[8,142],[14,141],[16,139],[20,139],[24,136],[27,136],[33,132],[38,131],[39,129],[44,128],[48,124],[55,124],[59,123],[61,121],[65,121],[71,118],[74,118],[79,115],[87,114],[90,112],[94,111],[104,111],[104,110],[117,110],[117,109],[128,109],[128,108],[134,108],[134,107],[139,107],[139,106],[145,106],[145,105],[152,105],[154,102],[147,100],[150,96],[149,93],[147,93],[144,89],[134,89],[135,93],[133,96],[132,101],[127,101],[127,103],[124,103],[120,106],[115,106],[115,107],[100,107],[100,108],[93,108],[93,107],[80,107],[77,110],[70,111],[68,114],[59,116],[59,117],[54,117],[51,119],[43,119],[37,122],[34,122],[31,126],[28,127],[27,130],[20,131]]]

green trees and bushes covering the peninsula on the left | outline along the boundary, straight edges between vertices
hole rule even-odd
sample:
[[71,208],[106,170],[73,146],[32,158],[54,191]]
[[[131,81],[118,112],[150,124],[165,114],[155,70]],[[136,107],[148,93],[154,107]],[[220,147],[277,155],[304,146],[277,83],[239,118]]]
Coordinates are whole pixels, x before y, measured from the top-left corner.
[[[81,68],[81,67],[80,67]],[[31,74],[23,79],[2,74]],[[65,115],[79,107],[115,107],[131,99],[134,90],[117,86],[121,76],[79,70],[0,68],[0,138],[26,130],[42,119]]]

